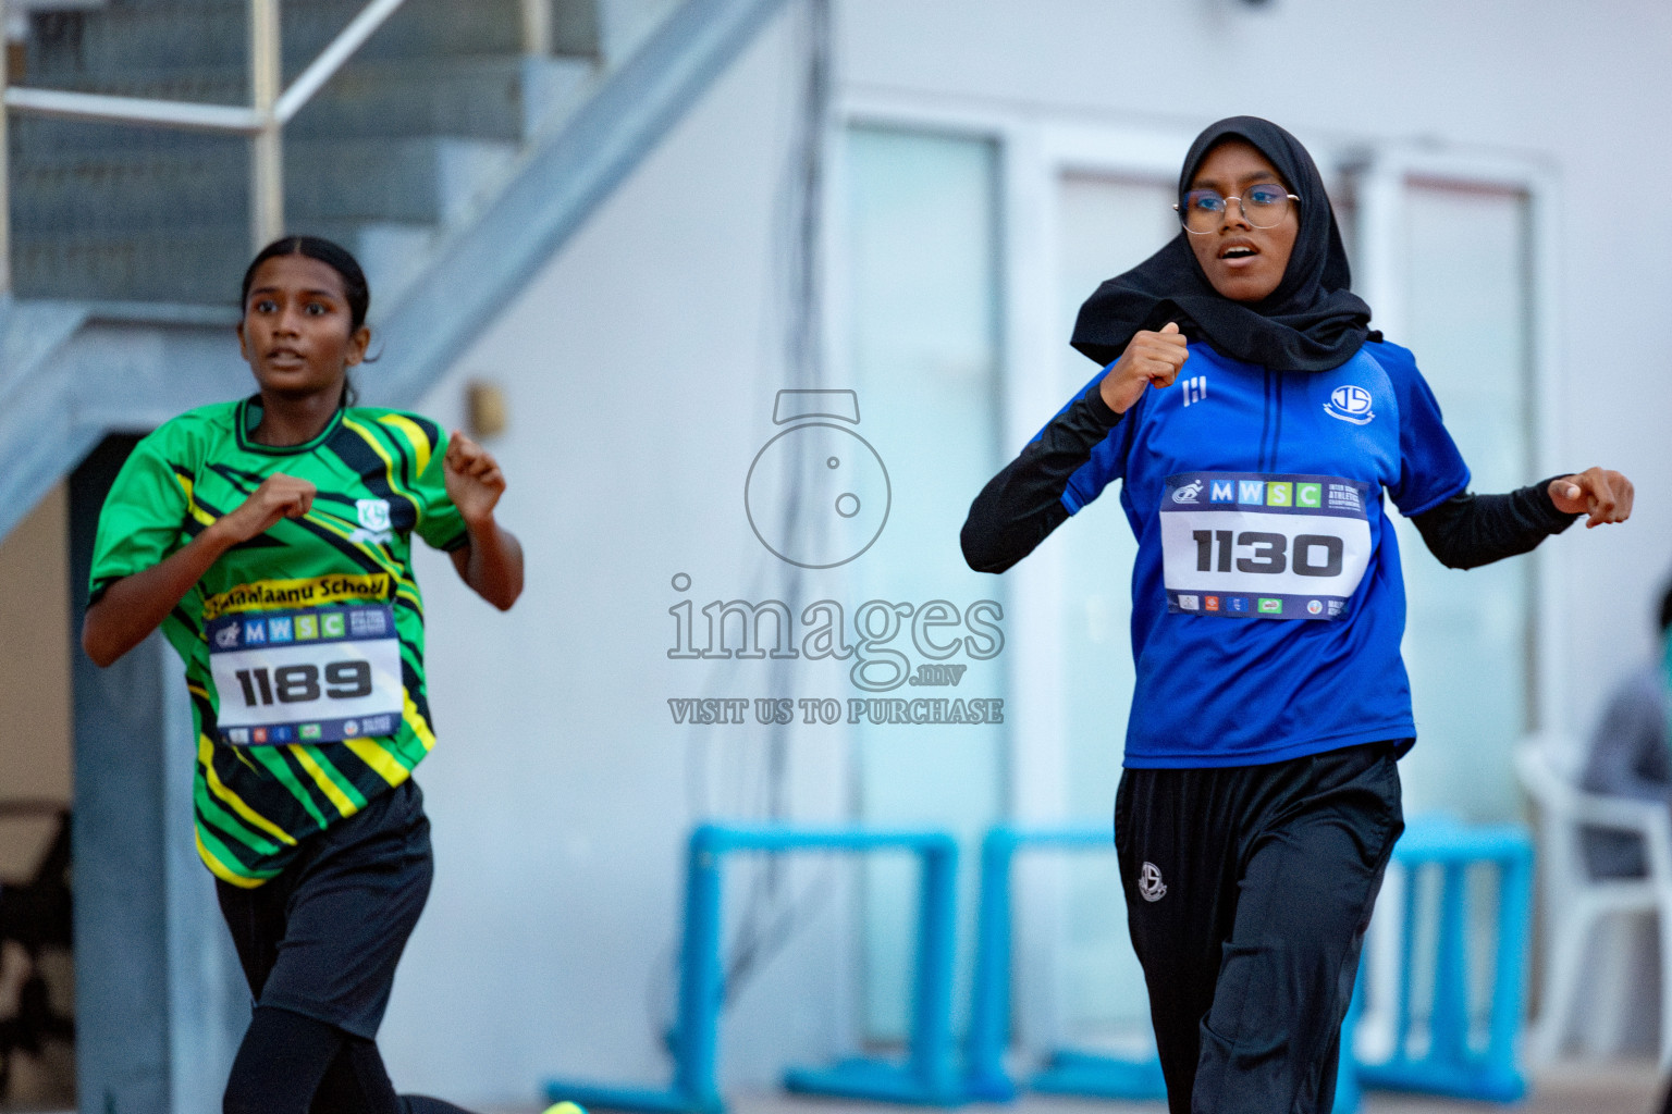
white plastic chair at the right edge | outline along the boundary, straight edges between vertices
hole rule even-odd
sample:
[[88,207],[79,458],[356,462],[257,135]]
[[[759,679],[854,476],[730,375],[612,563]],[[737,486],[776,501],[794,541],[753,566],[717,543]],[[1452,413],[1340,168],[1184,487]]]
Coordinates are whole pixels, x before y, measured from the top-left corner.
[[[1522,742],[1515,768],[1522,787],[1538,807],[1538,857],[1543,885],[1543,927],[1548,957],[1543,970],[1542,1012],[1533,1027],[1535,1056],[1550,1062],[1580,990],[1585,954],[1607,917],[1652,914],[1660,932],[1660,1072],[1672,1071],[1672,817],[1659,802],[1602,797],[1578,788],[1563,775],[1563,755],[1578,747],[1558,735]],[[1647,850],[1649,873],[1642,879],[1592,879],[1585,865],[1585,827],[1629,832]]]

